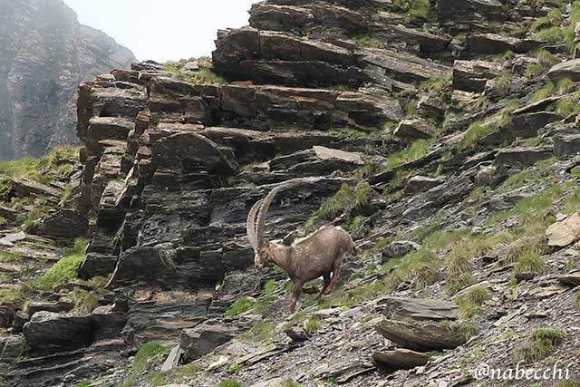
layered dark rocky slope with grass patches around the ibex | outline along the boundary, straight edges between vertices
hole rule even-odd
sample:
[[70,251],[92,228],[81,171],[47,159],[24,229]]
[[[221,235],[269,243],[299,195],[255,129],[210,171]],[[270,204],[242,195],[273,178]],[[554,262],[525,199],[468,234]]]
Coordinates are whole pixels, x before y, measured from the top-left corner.
[[[82,172],[62,155],[45,181],[5,167],[3,382],[577,386],[580,2],[250,15],[212,63],[83,83]],[[306,177],[266,237],[339,224],[360,254],[287,315],[291,284],[251,267],[245,221]],[[518,363],[562,380],[475,373]]]

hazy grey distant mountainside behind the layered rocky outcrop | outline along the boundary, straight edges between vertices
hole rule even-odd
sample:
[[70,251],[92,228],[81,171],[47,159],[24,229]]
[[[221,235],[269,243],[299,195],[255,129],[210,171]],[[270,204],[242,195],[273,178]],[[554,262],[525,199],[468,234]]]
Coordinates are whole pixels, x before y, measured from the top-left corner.
[[61,0],[0,3],[0,160],[77,143],[77,85],[134,60]]

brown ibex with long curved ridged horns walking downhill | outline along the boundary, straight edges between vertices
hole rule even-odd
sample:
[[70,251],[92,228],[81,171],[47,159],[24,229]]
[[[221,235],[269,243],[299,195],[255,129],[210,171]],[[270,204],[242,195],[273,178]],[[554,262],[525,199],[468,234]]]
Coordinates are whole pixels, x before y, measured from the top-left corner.
[[[340,275],[341,264],[347,254],[356,254],[351,236],[341,227],[325,226],[308,237],[295,240],[291,246],[276,241],[264,241],[266,214],[276,193],[296,184],[301,179],[291,180],[272,189],[266,198],[258,200],[247,216],[247,237],[254,249],[256,268],[273,262],[280,266],[294,283],[290,314],[295,312],[298,297],[304,293],[315,293],[315,288],[304,289],[304,283],[320,276],[324,287],[316,299],[330,294]],[[332,275],[332,276],[331,276]]]

